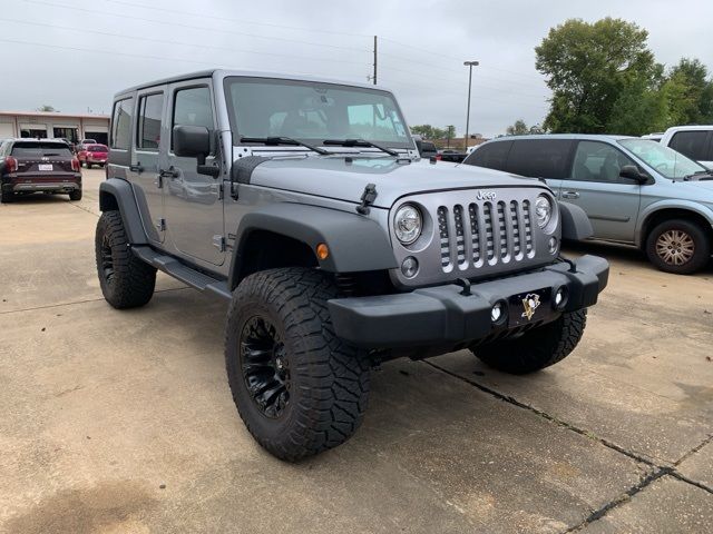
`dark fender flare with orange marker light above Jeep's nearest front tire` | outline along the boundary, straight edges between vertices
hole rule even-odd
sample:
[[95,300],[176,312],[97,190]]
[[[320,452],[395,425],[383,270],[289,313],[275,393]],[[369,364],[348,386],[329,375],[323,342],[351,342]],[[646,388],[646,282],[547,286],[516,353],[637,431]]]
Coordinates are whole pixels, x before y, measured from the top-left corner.
[[[368,217],[292,202],[271,204],[247,214],[237,228],[228,287],[240,281],[245,245],[255,230],[266,230],[304,243],[315,254],[319,244],[329,247],[329,256],[319,260],[331,273],[358,273],[398,267],[391,243],[379,224]],[[316,254],[315,254],[316,256]]]

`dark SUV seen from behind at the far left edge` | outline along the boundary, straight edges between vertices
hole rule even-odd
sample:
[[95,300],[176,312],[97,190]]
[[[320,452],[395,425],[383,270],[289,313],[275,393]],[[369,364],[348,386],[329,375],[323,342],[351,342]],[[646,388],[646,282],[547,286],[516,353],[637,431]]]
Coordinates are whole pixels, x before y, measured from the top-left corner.
[[0,147],[0,186],[3,204],[37,191],[69,194],[71,200],[80,200],[79,160],[61,140],[6,140]]

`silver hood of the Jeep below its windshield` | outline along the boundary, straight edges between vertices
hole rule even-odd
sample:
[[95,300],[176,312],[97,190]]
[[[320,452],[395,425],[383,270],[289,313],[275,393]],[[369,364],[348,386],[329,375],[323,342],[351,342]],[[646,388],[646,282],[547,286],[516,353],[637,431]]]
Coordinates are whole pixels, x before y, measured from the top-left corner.
[[[252,159],[252,158],[251,158]],[[241,166],[241,160],[235,161]],[[445,161],[397,162],[394,158],[340,156],[279,157],[254,166],[250,184],[359,204],[368,184],[377,186],[373,206],[391,208],[404,195],[443,189],[546,187],[531,178]],[[244,180],[243,180],[244,181]]]

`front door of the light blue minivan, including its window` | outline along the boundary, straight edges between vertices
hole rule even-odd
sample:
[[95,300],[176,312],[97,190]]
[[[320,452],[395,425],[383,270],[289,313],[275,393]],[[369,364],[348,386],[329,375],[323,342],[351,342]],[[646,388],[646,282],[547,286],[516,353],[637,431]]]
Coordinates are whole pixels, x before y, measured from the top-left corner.
[[636,166],[618,148],[578,141],[570,176],[561,180],[559,198],[585,210],[596,238],[634,241],[642,186],[619,177],[625,165]]

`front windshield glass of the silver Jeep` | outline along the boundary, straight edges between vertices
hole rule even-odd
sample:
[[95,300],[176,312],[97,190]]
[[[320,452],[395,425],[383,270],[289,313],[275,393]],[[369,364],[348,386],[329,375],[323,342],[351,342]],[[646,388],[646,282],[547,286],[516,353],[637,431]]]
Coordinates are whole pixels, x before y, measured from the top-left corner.
[[227,78],[225,86],[236,140],[289,137],[319,145],[364,139],[413,148],[401,112],[385,91],[264,78]]

